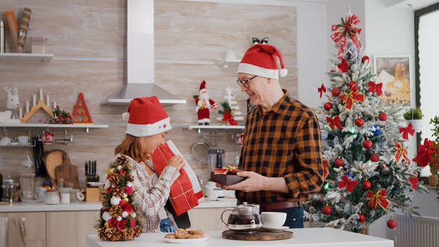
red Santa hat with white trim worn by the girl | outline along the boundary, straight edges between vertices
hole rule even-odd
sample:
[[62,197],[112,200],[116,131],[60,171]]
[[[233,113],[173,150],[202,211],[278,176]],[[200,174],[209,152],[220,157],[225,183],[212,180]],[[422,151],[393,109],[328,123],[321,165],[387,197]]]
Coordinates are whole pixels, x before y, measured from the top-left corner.
[[126,133],[137,137],[169,131],[170,119],[156,96],[131,100],[123,119],[128,120]]

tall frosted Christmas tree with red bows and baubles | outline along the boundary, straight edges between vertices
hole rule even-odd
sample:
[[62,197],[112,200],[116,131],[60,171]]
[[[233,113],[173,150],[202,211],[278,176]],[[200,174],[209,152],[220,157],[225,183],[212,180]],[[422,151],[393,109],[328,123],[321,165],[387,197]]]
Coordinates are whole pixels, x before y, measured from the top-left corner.
[[[350,11],[349,11],[350,12]],[[358,39],[360,20],[349,13],[332,26],[338,48],[323,109],[315,109],[323,140],[323,189],[304,204],[305,218],[319,226],[360,232],[397,208],[417,214],[407,192],[426,191],[418,181],[420,169],[407,157],[404,139],[412,126],[402,122],[400,105],[384,105],[382,84]],[[391,218],[389,227],[396,227]]]

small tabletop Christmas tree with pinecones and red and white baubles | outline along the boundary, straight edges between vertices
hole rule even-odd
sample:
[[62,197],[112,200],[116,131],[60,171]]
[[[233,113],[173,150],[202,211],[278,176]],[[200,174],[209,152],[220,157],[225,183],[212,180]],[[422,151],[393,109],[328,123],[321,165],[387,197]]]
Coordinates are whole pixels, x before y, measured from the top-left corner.
[[124,241],[142,234],[142,220],[134,202],[132,164],[128,156],[118,156],[107,169],[101,194],[102,208],[95,228],[100,239]]

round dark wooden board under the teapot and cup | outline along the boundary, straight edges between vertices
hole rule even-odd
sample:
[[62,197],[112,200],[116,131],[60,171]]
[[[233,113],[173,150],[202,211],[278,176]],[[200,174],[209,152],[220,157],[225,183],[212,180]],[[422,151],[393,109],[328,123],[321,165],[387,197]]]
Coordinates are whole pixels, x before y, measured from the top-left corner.
[[281,239],[292,239],[294,233],[283,231],[283,232],[266,232],[264,230],[259,230],[254,234],[241,234],[236,233],[232,230],[227,230],[222,232],[223,239],[231,240],[243,240],[243,241],[271,241],[271,240],[281,240]]

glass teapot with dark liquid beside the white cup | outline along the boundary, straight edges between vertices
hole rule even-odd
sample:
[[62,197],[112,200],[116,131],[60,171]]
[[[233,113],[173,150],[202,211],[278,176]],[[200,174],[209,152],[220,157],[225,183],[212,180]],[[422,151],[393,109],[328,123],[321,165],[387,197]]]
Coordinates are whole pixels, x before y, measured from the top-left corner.
[[[223,215],[226,211],[232,211],[227,223],[223,220]],[[222,211],[221,221],[232,231],[243,234],[252,234],[262,227],[259,208],[248,205],[246,202],[234,208],[227,208],[225,211]]]

